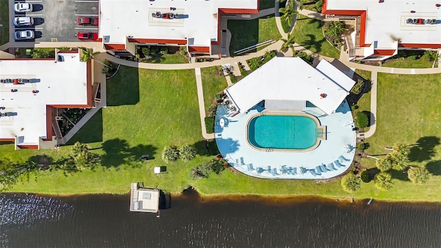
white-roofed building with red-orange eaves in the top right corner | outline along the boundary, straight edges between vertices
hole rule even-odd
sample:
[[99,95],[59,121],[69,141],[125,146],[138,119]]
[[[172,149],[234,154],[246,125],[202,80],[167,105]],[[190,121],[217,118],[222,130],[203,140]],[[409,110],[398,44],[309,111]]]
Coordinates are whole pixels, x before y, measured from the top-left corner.
[[441,6],[436,1],[323,0],[322,13],[356,19],[347,39],[353,43],[350,56],[358,59],[387,59],[399,49],[441,48]]

